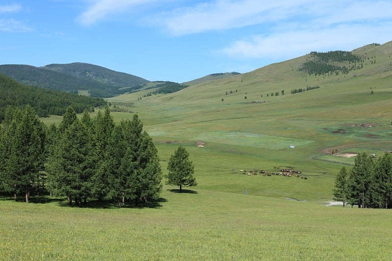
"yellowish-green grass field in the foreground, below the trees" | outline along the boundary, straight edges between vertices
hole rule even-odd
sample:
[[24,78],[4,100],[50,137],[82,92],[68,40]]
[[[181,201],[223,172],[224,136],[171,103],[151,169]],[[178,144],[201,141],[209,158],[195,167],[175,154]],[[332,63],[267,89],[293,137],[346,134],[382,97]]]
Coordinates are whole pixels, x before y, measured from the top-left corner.
[[0,260],[387,260],[388,210],[165,186],[153,208],[0,201]]

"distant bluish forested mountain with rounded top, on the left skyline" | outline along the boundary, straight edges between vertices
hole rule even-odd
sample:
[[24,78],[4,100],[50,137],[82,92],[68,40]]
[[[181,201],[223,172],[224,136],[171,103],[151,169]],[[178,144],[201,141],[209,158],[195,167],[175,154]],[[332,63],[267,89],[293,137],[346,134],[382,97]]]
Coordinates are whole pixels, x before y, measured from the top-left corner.
[[131,74],[83,63],[52,64],[44,67],[0,65],[0,73],[26,85],[71,93],[87,91],[95,97],[124,94],[149,82]]

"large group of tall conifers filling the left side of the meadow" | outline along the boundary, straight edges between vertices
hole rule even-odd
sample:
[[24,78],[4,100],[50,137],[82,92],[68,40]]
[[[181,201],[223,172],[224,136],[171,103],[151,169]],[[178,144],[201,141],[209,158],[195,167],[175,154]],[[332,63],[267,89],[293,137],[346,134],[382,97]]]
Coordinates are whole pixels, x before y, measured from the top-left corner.
[[[0,185],[25,194],[45,182],[58,196],[81,206],[86,200],[107,200],[136,206],[157,199],[162,171],[157,149],[137,115],[115,124],[109,109],[94,118],[78,119],[68,107],[56,127],[47,128],[34,109],[9,107],[0,129]],[[46,180],[38,173],[45,169]]]

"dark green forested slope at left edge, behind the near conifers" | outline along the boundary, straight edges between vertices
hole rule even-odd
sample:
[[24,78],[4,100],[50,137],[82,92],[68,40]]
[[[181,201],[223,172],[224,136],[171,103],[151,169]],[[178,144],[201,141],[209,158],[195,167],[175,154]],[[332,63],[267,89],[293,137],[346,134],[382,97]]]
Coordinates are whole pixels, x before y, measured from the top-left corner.
[[94,111],[95,107],[106,105],[102,98],[93,98],[67,92],[47,90],[21,84],[0,73],[0,122],[8,106],[31,105],[39,117],[63,115],[68,106],[75,112]]

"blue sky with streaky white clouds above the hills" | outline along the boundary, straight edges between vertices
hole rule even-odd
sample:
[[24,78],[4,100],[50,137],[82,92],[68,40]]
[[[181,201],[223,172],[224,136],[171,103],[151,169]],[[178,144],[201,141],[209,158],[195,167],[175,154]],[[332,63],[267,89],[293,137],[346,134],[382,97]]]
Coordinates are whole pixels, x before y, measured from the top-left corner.
[[384,44],[391,13],[391,0],[1,0],[0,64],[83,62],[181,83]]

